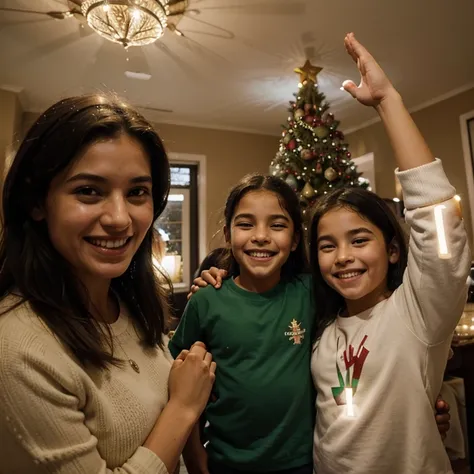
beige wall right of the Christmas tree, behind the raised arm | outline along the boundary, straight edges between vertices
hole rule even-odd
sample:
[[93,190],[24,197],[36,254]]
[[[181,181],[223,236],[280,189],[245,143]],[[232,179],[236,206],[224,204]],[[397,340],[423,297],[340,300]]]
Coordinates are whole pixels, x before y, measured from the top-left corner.
[[[460,115],[474,110],[474,89],[438,102],[413,114],[433,153],[443,160],[443,165],[453,186],[462,198],[466,228],[471,249],[474,236],[471,226],[471,207],[467,191],[466,171],[461,142]],[[377,193],[382,197],[395,196],[395,158],[382,124],[377,123],[346,136],[353,156],[375,154],[375,181]]]

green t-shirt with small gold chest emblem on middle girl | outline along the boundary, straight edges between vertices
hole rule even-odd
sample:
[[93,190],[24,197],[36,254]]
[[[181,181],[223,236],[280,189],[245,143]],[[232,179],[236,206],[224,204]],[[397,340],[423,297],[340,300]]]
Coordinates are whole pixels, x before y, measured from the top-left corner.
[[214,462],[247,471],[312,462],[311,282],[308,275],[252,293],[232,279],[189,301],[169,348],[203,341],[217,363],[206,408]]

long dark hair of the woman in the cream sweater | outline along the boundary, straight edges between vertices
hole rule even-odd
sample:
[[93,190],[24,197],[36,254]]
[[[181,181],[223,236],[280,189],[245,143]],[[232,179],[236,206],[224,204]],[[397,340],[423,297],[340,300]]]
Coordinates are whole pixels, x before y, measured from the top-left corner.
[[[52,180],[85,147],[121,134],[137,140],[149,156],[156,220],[168,198],[168,158],[150,123],[115,96],[70,97],[46,110],[21,143],[3,189],[1,298],[19,292],[81,363],[98,368],[120,363],[112,355],[111,333],[92,316],[87,291],[52,245],[46,222],[35,221],[32,213],[44,204]],[[111,286],[129,308],[142,342],[163,347],[168,308],[152,266],[152,242],[153,226],[127,271]]]

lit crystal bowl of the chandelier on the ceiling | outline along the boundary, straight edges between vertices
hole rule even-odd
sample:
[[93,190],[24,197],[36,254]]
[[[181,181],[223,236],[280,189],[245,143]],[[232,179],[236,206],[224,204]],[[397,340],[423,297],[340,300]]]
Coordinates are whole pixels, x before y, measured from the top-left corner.
[[125,48],[153,43],[168,24],[170,0],[85,0],[82,14],[99,35]]

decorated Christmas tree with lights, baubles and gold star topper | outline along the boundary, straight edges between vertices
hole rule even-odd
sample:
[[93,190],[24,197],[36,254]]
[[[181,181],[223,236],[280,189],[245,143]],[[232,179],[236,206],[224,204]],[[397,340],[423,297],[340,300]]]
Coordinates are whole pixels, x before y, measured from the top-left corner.
[[369,188],[369,181],[351,161],[339,122],[328,112],[325,95],[318,90],[316,76],[320,71],[309,61],[295,69],[300,75],[299,90],[290,101],[288,124],[283,127],[280,148],[270,165],[270,173],[298,193],[305,215],[319,196],[335,188]]

